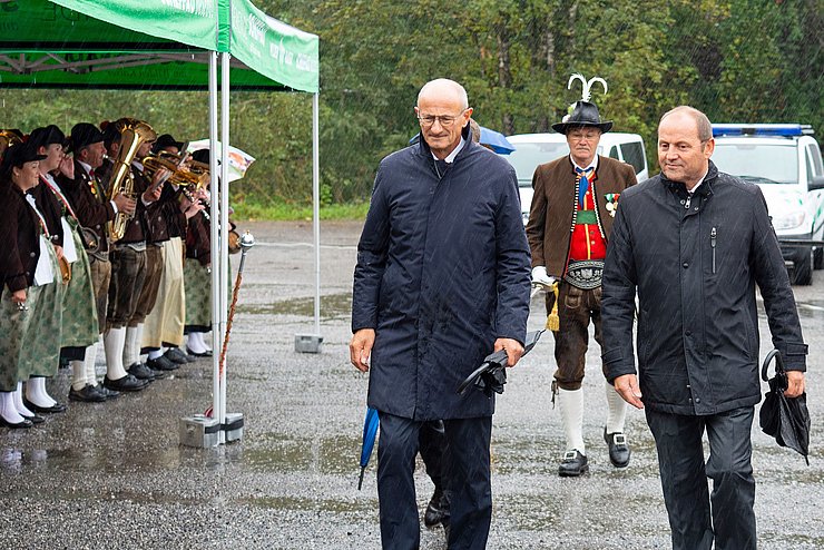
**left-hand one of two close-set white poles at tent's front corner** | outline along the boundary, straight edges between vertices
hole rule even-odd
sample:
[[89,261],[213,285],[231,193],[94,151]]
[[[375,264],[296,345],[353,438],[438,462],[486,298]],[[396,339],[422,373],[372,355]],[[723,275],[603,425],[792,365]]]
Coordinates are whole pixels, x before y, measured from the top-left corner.
[[219,258],[220,249],[218,237],[219,196],[220,183],[214,177],[217,174],[217,52],[209,52],[209,174],[212,177],[212,210],[209,213],[210,223],[210,253],[212,253],[212,418],[219,420],[220,412],[220,269]]

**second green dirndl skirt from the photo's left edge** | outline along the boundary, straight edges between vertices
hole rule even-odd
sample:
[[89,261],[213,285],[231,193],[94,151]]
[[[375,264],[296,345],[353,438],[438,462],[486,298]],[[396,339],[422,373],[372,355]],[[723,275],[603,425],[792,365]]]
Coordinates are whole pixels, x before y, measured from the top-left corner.
[[[60,330],[62,326],[63,283],[60,278],[60,268],[57,265],[57,254],[50,244],[46,246],[55,274],[52,283],[42,286],[30,286],[26,292],[29,299],[36,298],[29,305],[31,322],[23,334],[23,345],[20,351],[18,371],[23,374],[20,380],[30,375],[53,376],[57,374],[60,361]],[[28,303],[28,299],[27,299]]]

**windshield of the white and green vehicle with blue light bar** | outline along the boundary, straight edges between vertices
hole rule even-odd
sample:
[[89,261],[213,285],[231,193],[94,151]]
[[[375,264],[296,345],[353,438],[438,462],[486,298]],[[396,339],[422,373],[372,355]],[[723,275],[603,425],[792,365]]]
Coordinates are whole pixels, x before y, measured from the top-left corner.
[[795,144],[725,144],[715,143],[713,163],[720,171],[733,176],[753,176],[777,184],[798,183],[798,159]]

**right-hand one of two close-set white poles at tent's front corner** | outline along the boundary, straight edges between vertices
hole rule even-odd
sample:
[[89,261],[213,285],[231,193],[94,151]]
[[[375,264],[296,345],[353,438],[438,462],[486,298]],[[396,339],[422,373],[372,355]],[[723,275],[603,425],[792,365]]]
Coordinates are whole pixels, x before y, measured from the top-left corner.
[[[229,58],[220,53],[220,334],[225,338],[228,310],[229,273]],[[222,338],[223,340],[223,338]],[[225,340],[224,340],[225,342]],[[226,371],[228,361],[224,360],[220,377],[220,424],[226,423]],[[226,432],[220,430],[220,443],[225,443]]]

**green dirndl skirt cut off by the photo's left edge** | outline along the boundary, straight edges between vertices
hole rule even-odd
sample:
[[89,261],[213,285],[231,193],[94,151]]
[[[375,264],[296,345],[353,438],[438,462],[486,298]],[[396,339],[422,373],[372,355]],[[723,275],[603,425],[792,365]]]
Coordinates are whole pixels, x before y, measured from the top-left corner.
[[9,287],[3,285],[0,296],[0,392],[13,392],[17,383],[28,377],[20,372],[20,351],[26,340],[26,327],[31,323],[36,296],[26,289],[27,311],[20,311],[11,301]]

